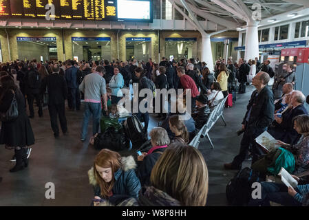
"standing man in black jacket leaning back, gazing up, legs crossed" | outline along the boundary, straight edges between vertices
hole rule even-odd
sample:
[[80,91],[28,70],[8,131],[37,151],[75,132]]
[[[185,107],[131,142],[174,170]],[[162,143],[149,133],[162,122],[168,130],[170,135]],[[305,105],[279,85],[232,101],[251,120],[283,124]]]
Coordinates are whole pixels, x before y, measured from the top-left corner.
[[244,136],[240,143],[239,154],[234,157],[233,162],[224,164],[226,169],[240,169],[242,162],[246,158],[246,153],[251,147],[253,154],[252,164],[257,161],[259,155],[262,155],[262,148],[257,146],[255,138],[266,131],[267,127],[274,120],[274,95],[268,89],[269,75],[265,72],[259,72],[254,78],[252,85],[257,88],[253,91],[249,104],[247,106],[246,115],[242,122],[242,129],[244,129]]

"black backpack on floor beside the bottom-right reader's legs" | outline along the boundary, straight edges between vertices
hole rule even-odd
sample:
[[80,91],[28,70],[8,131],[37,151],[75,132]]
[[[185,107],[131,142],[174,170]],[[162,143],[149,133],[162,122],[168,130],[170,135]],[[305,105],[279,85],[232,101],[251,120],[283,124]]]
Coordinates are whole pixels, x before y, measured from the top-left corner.
[[233,206],[244,206],[251,198],[252,184],[262,181],[259,173],[251,168],[240,170],[226,186],[226,199]]

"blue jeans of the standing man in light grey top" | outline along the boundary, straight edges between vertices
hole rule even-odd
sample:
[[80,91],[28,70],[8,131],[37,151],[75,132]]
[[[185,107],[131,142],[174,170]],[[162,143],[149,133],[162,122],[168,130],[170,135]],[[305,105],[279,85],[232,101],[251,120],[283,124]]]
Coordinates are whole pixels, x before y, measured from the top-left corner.
[[92,115],[92,134],[95,135],[96,133],[98,133],[101,111],[102,109],[100,103],[85,102],[81,139],[85,140],[87,137],[88,122],[90,115]]

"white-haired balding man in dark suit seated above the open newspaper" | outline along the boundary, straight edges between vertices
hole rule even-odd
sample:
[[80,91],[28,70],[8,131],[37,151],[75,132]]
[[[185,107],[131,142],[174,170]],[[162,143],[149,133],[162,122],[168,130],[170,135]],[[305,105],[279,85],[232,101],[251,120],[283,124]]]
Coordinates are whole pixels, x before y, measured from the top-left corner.
[[276,140],[281,140],[287,144],[296,144],[299,140],[299,133],[294,129],[293,118],[297,115],[308,115],[307,110],[303,106],[306,97],[301,91],[293,91],[290,96],[290,104],[292,109],[285,111],[281,117],[275,116],[276,125],[268,128],[268,133],[273,135]]

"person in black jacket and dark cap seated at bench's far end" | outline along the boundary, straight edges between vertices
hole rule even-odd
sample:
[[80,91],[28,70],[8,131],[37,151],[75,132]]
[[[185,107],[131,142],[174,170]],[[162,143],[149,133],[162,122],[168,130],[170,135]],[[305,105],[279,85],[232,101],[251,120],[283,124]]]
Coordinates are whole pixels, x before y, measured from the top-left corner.
[[208,120],[208,116],[211,113],[211,110],[208,106],[208,98],[207,96],[200,95],[195,100],[195,104],[197,108],[192,113],[192,118],[195,121],[195,133],[198,133],[200,129],[204,126],[204,124]]

